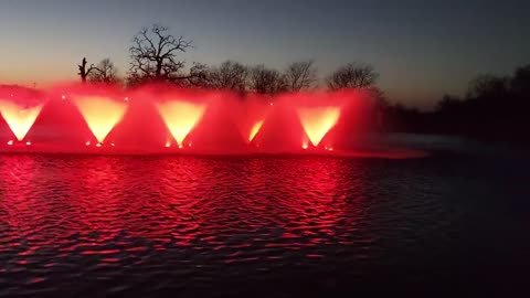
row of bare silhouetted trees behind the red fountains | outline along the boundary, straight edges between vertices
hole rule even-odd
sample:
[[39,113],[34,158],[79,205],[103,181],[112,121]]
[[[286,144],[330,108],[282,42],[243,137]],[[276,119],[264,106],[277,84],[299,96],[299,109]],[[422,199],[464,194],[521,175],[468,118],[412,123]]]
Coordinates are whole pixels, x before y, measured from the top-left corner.
[[[219,65],[193,62],[189,65],[180,55],[193,49],[192,41],[173,36],[168,28],[153,24],[144,28],[131,40],[130,67],[119,77],[109,58],[88,64],[84,57],[77,65],[82,83],[124,84],[136,87],[148,83],[167,83],[189,88],[230,89],[237,93],[275,95],[308,91],[319,86],[317,68],[311,60],[298,61],[284,70],[263,64],[243,65],[225,61]],[[379,74],[371,65],[349,63],[331,73],[322,83],[329,89],[375,88]]]

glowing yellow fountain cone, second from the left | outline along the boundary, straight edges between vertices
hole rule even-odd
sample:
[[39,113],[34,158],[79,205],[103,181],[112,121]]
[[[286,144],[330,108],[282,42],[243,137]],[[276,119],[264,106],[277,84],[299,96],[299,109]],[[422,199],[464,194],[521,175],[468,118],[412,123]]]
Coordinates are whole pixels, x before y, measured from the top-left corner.
[[105,140],[127,110],[126,104],[108,97],[77,96],[74,103],[99,143]]

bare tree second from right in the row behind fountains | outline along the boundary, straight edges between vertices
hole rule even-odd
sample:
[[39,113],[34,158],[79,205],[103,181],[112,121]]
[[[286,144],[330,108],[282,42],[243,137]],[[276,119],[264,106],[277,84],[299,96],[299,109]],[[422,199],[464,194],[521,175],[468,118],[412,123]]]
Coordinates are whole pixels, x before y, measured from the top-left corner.
[[317,82],[317,70],[314,61],[294,62],[285,68],[284,77],[287,89],[299,92],[311,88]]

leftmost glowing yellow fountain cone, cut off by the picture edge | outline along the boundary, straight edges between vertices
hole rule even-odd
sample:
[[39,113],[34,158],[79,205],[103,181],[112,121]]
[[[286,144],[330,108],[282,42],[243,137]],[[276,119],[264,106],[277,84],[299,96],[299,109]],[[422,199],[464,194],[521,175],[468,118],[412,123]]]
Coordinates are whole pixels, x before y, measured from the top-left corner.
[[10,100],[0,99],[0,113],[19,141],[24,139],[43,106],[39,104],[33,107],[22,107]]

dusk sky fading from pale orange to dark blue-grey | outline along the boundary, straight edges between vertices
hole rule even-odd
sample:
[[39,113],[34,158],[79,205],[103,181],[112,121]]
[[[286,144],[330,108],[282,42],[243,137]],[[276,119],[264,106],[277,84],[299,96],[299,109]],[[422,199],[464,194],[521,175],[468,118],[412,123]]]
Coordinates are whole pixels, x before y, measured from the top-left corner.
[[0,2],[0,84],[77,79],[109,57],[124,75],[142,26],[160,23],[195,45],[182,58],[282,70],[315,60],[320,76],[361,61],[392,102],[428,107],[480,73],[530,63],[529,1],[72,1]]

